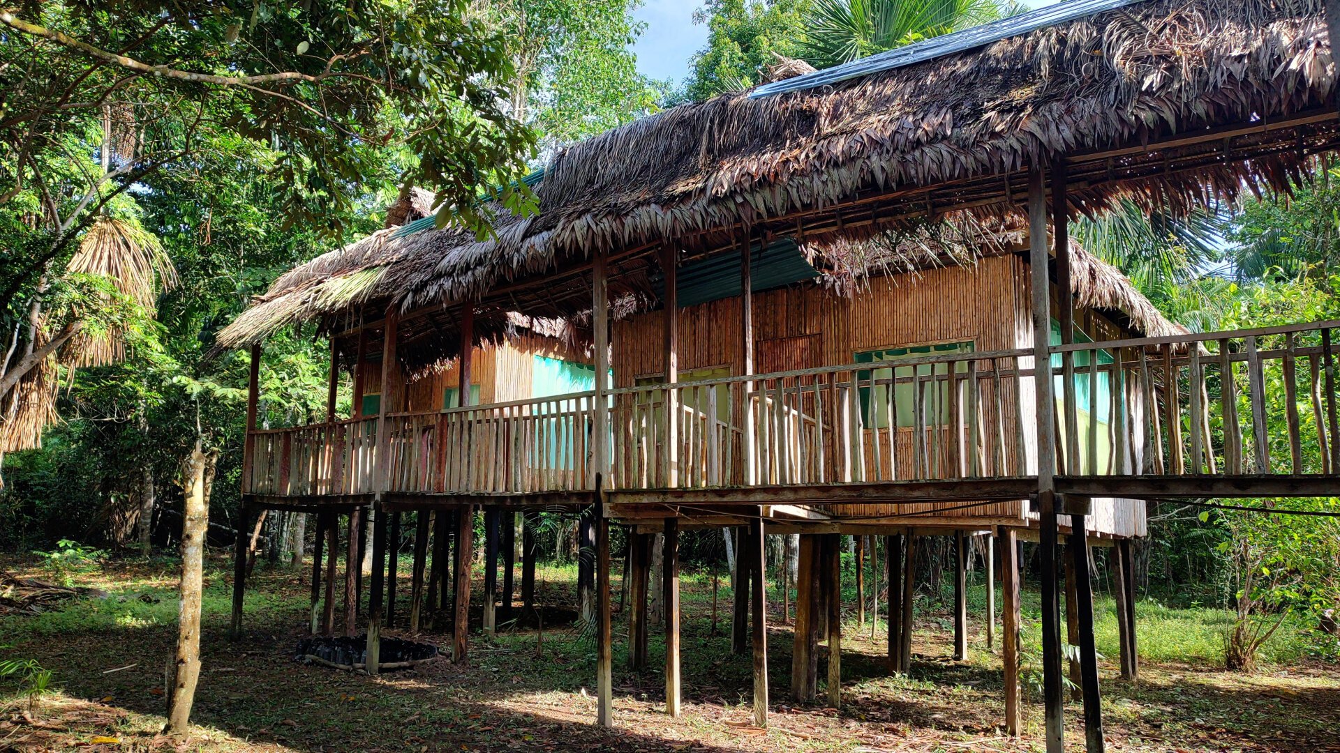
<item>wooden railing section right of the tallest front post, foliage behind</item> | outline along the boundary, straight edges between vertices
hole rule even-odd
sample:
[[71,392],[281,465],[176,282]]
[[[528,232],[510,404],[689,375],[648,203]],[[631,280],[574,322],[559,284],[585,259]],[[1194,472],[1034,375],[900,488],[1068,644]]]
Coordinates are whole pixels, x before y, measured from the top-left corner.
[[1055,348],[1059,473],[1335,473],[1336,327],[1340,322]]

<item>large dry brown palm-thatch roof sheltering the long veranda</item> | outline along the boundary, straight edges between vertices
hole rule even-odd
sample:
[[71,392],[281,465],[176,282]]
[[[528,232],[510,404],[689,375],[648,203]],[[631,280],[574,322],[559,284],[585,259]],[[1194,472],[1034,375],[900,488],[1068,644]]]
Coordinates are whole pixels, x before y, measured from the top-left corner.
[[364,304],[567,316],[600,252],[631,293],[661,244],[1017,218],[1026,166],[1056,157],[1072,214],[1288,190],[1340,143],[1324,29],[1323,0],[1144,0],[831,88],[673,107],[557,153],[540,213],[494,238],[383,230],[280,277],[220,343]]

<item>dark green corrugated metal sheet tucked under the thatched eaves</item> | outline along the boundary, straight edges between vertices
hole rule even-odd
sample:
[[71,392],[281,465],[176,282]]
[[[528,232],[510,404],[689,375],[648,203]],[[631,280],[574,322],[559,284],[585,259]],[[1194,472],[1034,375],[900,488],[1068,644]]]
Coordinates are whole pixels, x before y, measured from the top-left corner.
[[[819,276],[791,238],[776,240],[762,249],[757,244],[752,247],[749,267],[750,289],[756,293]],[[734,297],[742,289],[740,255],[718,253],[702,261],[685,264],[678,271],[677,283],[679,308]],[[665,276],[653,275],[651,287],[657,297],[665,297]]]

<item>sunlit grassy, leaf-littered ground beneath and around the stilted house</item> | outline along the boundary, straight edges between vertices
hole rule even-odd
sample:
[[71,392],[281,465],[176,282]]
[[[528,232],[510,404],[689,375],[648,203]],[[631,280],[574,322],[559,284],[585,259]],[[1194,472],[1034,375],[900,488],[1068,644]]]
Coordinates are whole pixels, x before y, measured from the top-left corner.
[[[35,563],[3,563],[32,572]],[[206,572],[204,674],[189,749],[198,750],[1036,750],[1041,709],[1025,705],[1025,734],[1004,736],[1000,657],[984,642],[985,591],[970,598],[967,661],[947,659],[950,611],[918,599],[911,677],[882,666],[883,620],[875,638],[855,624],[854,594],[843,646],[843,709],[789,701],[791,628],[772,599],[769,634],[770,725],[752,721],[752,659],[730,655],[729,580],[720,588],[712,624],[710,573],[682,579],[685,713],[666,717],[661,673],[663,643],[651,632],[651,669],[626,670],[626,614],[615,616],[614,730],[595,726],[595,643],[571,626],[551,626],[543,646],[535,631],[472,636],[468,666],[440,659],[381,678],[351,675],[292,661],[307,622],[307,569],[267,569],[249,581],[245,635],[225,638],[230,565],[210,559]],[[401,573],[407,572],[402,563]],[[575,603],[574,567],[540,568],[540,602]],[[80,584],[103,598],[67,603],[36,616],[0,619],[4,655],[38,659],[54,671],[58,693],[31,721],[12,687],[0,687],[0,749],[147,750],[176,742],[162,726],[162,666],[176,636],[176,564],[113,561]],[[618,572],[615,572],[618,590]],[[476,594],[478,592],[478,580]],[[403,579],[398,594],[409,591]],[[770,592],[773,596],[776,591]],[[366,594],[364,594],[366,596]],[[615,591],[615,606],[619,594]],[[478,612],[476,604],[476,615]],[[1210,608],[1138,608],[1142,678],[1115,677],[1116,627],[1107,599],[1097,604],[1104,654],[1104,721],[1112,749],[1317,750],[1332,745],[1340,722],[1336,667],[1308,658],[1309,638],[1296,624],[1266,650],[1266,667],[1225,673],[1219,635],[1227,615]],[[1025,591],[1026,623],[1038,614]],[[401,618],[405,604],[401,602]],[[477,619],[477,616],[476,616]],[[1026,639],[1036,636],[1030,628]],[[423,639],[446,643],[446,636]],[[117,671],[107,671],[117,670]],[[823,659],[820,683],[825,677]],[[823,689],[820,689],[823,694]],[[8,695],[4,695],[8,694]],[[1067,740],[1083,748],[1079,705],[1067,707]],[[119,742],[95,744],[100,737]]]

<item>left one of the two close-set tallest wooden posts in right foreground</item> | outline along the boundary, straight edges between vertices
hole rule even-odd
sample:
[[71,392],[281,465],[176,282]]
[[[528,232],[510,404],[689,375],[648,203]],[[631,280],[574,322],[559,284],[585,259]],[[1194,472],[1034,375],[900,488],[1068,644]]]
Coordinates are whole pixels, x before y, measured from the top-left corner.
[[[1064,206],[1064,202],[1059,202]],[[1059,220],[1053,218],[1053,220]],[[1060,222],[1057,222],[1060,224]],[[1056,399],[1052,386],[1052,307],[1047,253],[1047,190],[1041,165],[1028,174],[1029,272],[1032,276],[1033,387],[1037,426],[1037,509],[1043,565],[1043,697],[1047,752],[1063,753],[1060,602],[1056,594]]]

